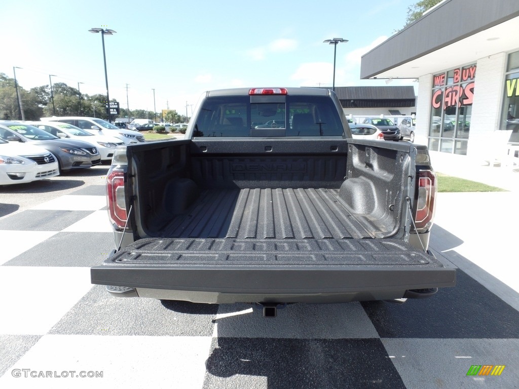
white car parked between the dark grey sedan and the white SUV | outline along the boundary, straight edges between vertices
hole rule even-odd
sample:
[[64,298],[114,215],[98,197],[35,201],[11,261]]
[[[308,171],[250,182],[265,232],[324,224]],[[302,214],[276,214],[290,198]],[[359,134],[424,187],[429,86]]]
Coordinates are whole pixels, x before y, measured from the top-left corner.
[[61,123],[59,121],[31,121],[27,123],[60,138],[77,139],[78,141],[91,143],[97,147],[101,161],[111,161],[115,147],[124,144],[114,136],[93,135],[69,123]]

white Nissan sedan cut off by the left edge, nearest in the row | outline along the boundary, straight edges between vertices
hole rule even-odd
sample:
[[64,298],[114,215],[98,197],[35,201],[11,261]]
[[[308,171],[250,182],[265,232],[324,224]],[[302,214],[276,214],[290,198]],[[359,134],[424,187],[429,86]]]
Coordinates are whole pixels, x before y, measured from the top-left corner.
[[58,174],[58,160],[51,152],[0,138],[0,185],[30,183]]

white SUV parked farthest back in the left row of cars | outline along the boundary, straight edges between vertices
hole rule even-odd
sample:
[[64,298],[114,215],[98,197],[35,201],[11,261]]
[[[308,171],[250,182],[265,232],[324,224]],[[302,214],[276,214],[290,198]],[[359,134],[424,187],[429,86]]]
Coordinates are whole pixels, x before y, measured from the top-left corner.
[[72,126],[79,127],[94,135],[108,135],[119,138],[125,145],[132,143],[144,142],[144,135],[135,131],[125,130],[114,126],[112,123],[99,118],[90,118],[83,116],[53,116],[50,118],[40,118],[42,121],[59,121],[69,123]]

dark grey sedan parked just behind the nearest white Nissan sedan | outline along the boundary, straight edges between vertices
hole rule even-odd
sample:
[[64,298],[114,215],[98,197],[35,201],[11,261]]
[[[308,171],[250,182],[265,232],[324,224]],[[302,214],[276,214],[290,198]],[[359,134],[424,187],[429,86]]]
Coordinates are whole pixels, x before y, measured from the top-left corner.
[[29,124],[0,120],[0,138],[43,147],[58,159],[60,171],[90,168],[101,163],[97,147],[84,141],[62,139]]

